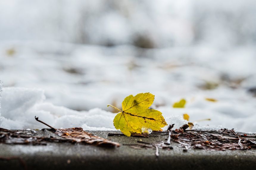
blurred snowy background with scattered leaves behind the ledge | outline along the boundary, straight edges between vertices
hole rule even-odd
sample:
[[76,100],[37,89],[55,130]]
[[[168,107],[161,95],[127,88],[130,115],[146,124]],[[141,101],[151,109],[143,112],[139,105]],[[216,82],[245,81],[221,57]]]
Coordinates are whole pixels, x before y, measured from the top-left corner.
[[254,0],[0,1],[4,87],[77,111],[150,92],[165,117],[256,132],[255,44]]

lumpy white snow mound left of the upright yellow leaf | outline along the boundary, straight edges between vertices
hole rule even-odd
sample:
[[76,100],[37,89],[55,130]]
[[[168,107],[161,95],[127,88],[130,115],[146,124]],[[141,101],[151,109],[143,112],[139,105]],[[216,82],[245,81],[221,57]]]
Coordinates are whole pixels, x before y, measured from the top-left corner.
[[45,128],[35,116],[56,128],[83,127],[85,130],[115,130],[115,114],[99,108],[78,112],[44,102],[43,90],[4,88],[1,127],[9,129]]

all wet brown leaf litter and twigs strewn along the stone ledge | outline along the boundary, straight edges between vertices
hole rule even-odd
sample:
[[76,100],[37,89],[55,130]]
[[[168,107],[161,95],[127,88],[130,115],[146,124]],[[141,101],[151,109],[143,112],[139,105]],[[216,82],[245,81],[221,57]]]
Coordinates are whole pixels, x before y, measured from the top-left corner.
[[[174,130],[172,129],[173,126],[174,124],[169,125],[167,131],[153,131],[147,135],[136,134],[133,136],[135,139],[137,138],[135,143],[121,142],[120,144],[111,141],[111,139],[107,140],[90,134],[83,131],[82,128],[43,129],[49,132],[49,136],[42,136],[35,130],[8,130],[0,128],[0,143],[47,145],[48,142],[65,142],[106,147],[126,145],[133,149],[153,149],[157,157],[161,155],[159,153],[160,150],[172,150],[174,146],[183,148],[184,152],[188,152],[188,149],[223,151],[256,148],[256,136],[251,134],[241,134],[228,129],[220,129],[218,131],[187,130],[187,124]],[[120,135],[124,138],[129,138],[122,133],[110,133],[108,135]],[[146,139],[156,136],[166,136],[166,140],[157,141],[159,138],[155,138],[156,140],[153,140],[154,142],[146,142]]]

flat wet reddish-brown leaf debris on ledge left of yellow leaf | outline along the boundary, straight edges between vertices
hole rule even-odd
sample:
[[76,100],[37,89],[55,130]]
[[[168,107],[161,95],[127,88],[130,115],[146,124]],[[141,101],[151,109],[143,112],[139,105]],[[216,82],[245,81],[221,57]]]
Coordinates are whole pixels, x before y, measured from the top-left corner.
[[[51,129],[49,129],[51,130]],[[37,131],[19,131],[0,128],[0,143],[46,145],[47,142],[94,144],[97,146],[120,146],[117,142],[95,136],[82,128],[55,129],[54,136],[42,136]]]

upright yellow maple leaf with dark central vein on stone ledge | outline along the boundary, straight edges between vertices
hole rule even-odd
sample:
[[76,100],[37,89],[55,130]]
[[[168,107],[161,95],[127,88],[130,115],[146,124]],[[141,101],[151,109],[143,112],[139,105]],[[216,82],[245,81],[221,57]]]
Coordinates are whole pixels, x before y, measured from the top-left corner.
[[151,93],[139,93],[136,96],[127,96],[122,102],[122,111],[115,116],[113,122],[116,129],[126,135],[132,133],[142,134],[142,128],[150,128],[153,131],[161,131],[167,125],[162,113],[158,110],[149,109],[154,101]]

